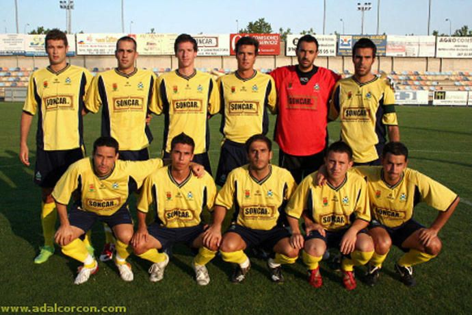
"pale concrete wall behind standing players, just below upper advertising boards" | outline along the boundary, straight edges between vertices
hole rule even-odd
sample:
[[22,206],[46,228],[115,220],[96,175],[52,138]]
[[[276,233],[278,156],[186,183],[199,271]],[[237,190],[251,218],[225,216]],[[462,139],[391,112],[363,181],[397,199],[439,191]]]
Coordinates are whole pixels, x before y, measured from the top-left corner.
[[[282,53],[283,50],[281,51]],[[77,55],[69,58],[71,64],[92,68],[113,68],[116,66],[116,59],[113,55]],[[285,55],[257,57],[256,68],[274,69],[279,66],[296,64],[296,57]],[[27,67],[42,68],[49,64],[47,57],[26,57],[26,56],[0,56],[0,66],[8,68]],[[350,57],[318,57],[315,60],[317,66],[324,66],[332,70],[343,72],[354,71]],[[386,73],[391,71],[471,71],[472,59],[449,59],[449,58],[402,58],[402,57],[378,57],[373,66],[374,71],[382,70]],[[140,55],[137,58],[137,66],[140,68],[176,68],[177,59],[174,56]],[[197,68],[224,68],[235,70],[237,67],[235,56],[218,57],[198,57],[195,66]]]

